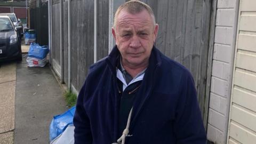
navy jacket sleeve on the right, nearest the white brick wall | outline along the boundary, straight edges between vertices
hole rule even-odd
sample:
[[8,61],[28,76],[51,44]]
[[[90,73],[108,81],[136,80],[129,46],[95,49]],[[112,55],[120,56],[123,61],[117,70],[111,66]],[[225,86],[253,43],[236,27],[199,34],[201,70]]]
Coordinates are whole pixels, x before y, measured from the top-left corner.
[[187,71],[182,79],[174,122],[177,144],[205,144],[206,132],[197,102],[193,77]]

